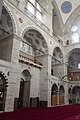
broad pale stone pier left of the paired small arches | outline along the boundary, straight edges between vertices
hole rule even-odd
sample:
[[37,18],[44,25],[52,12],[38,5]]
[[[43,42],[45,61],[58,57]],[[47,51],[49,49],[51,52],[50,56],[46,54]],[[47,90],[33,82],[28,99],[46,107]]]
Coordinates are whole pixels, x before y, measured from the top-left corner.
[[47,103],[47,106],[51,106],[51,88],[50,88],[50,76],[51,76],[51,56],[45,55],[43,58],[43,69],[41,70],[40,79],[40,101]]

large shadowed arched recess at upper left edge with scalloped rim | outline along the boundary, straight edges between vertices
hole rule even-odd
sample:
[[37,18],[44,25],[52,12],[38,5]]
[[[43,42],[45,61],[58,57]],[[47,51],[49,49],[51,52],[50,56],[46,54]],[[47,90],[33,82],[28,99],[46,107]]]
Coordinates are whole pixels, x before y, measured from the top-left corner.
[[[16,27],[13,15],[5,3],[1,11],[0,26],[2,28],[0,30],[0,51],[2,51],[0,52],[0,59],[11,61],[13,34],[16,34]],[[4,46],[6,49],[4,49]]]

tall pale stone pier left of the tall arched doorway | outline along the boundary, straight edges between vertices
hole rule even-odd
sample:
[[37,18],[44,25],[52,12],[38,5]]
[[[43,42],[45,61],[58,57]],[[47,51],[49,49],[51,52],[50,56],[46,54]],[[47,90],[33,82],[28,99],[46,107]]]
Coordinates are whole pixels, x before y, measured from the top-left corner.
[[14,99],[19,97],[18,90],[18,58],[19,58],[20,40],[17,36],[13,38],[13,48],[11,55],[11,68],[8,77],[8,88],[6,96],[5,111],[13,111]]

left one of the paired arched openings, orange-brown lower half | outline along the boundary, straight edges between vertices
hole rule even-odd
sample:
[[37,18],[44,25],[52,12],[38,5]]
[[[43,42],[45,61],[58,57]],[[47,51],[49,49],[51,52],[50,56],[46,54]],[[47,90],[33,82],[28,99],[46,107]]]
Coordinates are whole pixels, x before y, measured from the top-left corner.
[[57,100],[57,92],[58,92],[58,87],[56,84],[52,86],[52,91],[51,91],[51,105],[57,105],[58,100]]

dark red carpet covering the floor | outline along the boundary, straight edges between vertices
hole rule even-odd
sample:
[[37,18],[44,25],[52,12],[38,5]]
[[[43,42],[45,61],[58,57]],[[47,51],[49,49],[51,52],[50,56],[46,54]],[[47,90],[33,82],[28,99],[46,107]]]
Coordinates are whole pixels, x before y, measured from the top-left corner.
[[80,105],[50,108],[22,108],[0,113],[0,120],[80,120]]

